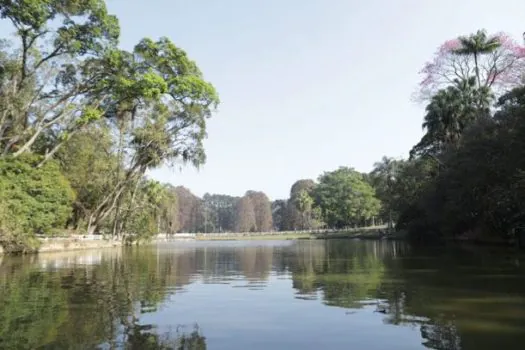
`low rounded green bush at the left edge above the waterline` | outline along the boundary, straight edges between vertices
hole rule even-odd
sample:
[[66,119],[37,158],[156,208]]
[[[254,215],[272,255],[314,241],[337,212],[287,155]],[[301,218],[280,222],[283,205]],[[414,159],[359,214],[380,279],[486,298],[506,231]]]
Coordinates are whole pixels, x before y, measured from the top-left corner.
[[74,192],[58,164],[35,168],[38,161],[36,156],[0,159],[0,202],[13,230],[3,235],[51,234],[71,213]]

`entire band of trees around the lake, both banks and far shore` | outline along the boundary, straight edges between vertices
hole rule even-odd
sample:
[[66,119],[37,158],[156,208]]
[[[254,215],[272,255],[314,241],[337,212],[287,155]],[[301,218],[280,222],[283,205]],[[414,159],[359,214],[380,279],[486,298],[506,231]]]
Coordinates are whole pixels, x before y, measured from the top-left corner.
[[[415,240],[512,241],[525,206],[525,47],[484,30],[440,46],[414,99],[424,136],[383,157],[291,184],[205,194],[146,176],[203,165],[214,86],[166,37],[119,48],[103,0],[0,0],[0,243],[124,233],[269,232],[395,223]],[[408,150],[407,150],[408,151]]]

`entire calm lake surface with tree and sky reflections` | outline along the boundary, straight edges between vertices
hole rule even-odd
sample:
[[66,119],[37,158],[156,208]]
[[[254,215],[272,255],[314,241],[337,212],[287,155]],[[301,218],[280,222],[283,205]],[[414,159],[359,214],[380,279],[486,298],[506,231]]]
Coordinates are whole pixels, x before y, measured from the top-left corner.
[[391,242],[0,257],[2,349],[525,349],[525,258]]

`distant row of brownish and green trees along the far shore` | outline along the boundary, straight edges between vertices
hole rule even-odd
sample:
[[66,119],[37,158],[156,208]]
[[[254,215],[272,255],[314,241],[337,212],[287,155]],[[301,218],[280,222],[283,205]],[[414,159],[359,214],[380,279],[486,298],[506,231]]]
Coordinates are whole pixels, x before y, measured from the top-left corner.
[[342,167],[324,173],[318,183],[298,180],[288,199],[274,201],[257,191],[243,197],[205,194],[199,198],[176,187],[178,216],[169,232],[294,231],[379,223],[385,217],[366,179],[365,174]]

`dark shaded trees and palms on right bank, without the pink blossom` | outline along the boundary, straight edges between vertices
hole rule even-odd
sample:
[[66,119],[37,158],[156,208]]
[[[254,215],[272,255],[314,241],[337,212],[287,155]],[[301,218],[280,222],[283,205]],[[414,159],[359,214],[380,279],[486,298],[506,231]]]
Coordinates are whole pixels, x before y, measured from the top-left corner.
[[490,108],[493,81],[480,79],[479,58],[498,50],[501,38],[478,31],[458,43],[452,54],[473,57],[475,75],[432,97],[426,134],[381,197],[397,210],[398,228],[414,238],[513,241],[525,220],[525,88],[503,94]]

